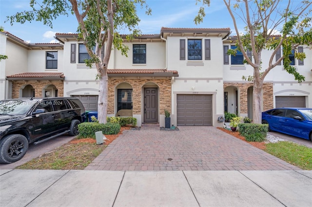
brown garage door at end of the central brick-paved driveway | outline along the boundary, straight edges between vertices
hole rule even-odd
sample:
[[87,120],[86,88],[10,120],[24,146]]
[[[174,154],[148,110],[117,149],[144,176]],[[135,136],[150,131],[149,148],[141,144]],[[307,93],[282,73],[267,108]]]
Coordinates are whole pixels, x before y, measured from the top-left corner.
[[176,125],[212,125],[212,95],[177,94],[176,101]]

